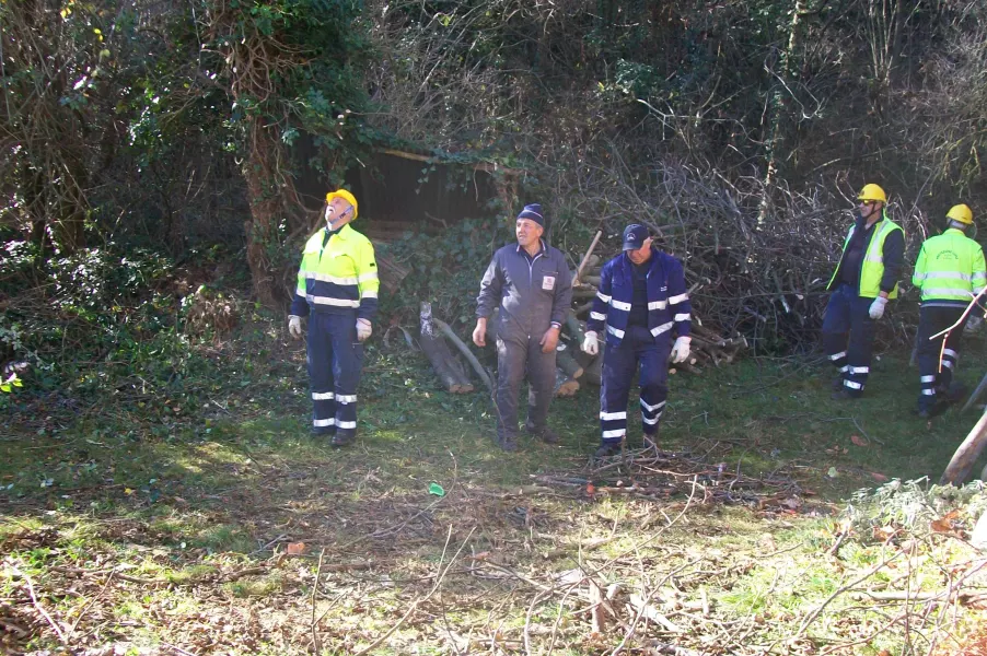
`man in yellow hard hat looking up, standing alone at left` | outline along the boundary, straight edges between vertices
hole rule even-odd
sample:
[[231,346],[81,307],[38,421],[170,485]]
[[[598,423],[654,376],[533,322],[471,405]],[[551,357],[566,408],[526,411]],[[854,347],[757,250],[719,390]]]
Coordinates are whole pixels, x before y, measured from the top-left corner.
[[350,227],[357,199],[346,189],[326,195],[326,226],[305,244],[288,329],[302,336],[309,317],[309,380],[312,433],[334,446],[357,435],[357,387],[363,342],[378,308],[378,266],[370,239]]

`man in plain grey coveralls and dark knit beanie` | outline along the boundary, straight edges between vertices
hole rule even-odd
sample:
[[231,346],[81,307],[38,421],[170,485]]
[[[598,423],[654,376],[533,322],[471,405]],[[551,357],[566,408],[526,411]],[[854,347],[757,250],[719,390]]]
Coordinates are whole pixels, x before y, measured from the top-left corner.
[[516,244],[494,254],[480,282],[473,343],[486,345],[487,318],[497,319],[497,443],[518,448],[518,395],[527,371],[529,433],[555,444],[547,423],[555,390],[555,348],[572,303],[572,280],[566,256],[542,239],[545,219],[533,203],[518,214]]

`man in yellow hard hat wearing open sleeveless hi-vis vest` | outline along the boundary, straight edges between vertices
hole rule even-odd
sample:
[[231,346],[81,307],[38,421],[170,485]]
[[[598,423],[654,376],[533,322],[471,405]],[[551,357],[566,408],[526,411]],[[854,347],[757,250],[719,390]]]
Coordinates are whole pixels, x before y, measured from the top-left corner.
[[839,371],[836,400],[860,397],[870,374],[874,323],[889,298],[897,297],[905,259],[905,233],[887,218],[887,196],[864,185],[857,196],[857,219],[847,234],[839,265],[829,279],[833,292],[823,320],[823,347]]

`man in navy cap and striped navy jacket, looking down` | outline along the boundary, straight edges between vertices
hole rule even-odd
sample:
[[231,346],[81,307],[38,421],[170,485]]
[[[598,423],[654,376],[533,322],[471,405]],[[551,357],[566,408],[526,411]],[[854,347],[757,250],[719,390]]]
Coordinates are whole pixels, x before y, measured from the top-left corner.
[[[658,422],[669,396],[669,358],[689,355],[692,309],[682,263],[651,245],[648,230],[624,230],[624,253],[603,266],[600,291],[587,321],[582,350],[595,355],[606,321],[606,356],[600,389],[603,440],[596,457],[618,454],[627,435],[627,397],[641,367],[641,426],[645,443],[654,444]],[[672,344],[672,332],[677,337]]]

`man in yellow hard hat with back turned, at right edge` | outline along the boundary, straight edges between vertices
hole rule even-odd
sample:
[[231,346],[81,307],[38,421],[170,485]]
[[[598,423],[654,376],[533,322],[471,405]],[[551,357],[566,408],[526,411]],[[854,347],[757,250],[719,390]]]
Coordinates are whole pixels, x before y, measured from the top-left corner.
[[918,415],[922,419],[944,407],[945,393],[949,391],[960,356],[963,326],[956,326],[949,337],[929,338],[955,324],[971,300],[987,286],[984,249],[967,236],[976,230],[973,212],[967,206],[957,204],[947,212],[945,218],[945,232],[922,244],[911,277],[911,283],[921,290],[918,318],[921,391],[918,395]]

